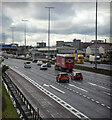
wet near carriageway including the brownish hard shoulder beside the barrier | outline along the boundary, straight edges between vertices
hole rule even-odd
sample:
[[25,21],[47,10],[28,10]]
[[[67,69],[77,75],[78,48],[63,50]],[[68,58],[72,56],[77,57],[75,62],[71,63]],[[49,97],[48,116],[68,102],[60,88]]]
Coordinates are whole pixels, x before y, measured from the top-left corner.
[[[104,118],[106,120],[111,117],[112,93],[110,88],[112,82],[110,76],[74,69],[82,72],[83,81],[70,79],[69,83],[57,83],[56,75],[59,71],[55,71],[54,66],[45,71],[40,70],[36,63],[31,64],[31,69],[26,69],[23,60],[7,59],[4,63],[16,71],[16,74],[12,74],[12,79],[15,77],[16,84],[20,85],[20,89],[25,89],[23,91],[26,91],[27,95],[30,96],[27,96],[27,98],[33,106],[36,107],[36,103],[38,103],[46,109],[51,117]],[[9,71],[9,74],[11,75],[11,71]],[[41,91],[41,93],[39,92],[40,95],[36,91]],[[51,103],[51,100],[46,97],[43,98],[43,93],[55,102]],[[56,105],[62,108],[58,108]],[[50,117],[44,115],[45,112],[41,114],[45,118]]]

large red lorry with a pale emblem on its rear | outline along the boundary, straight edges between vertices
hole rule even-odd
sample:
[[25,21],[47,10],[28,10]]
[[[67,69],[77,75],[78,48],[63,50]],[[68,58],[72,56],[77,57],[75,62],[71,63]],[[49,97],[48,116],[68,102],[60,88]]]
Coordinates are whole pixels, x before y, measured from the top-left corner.
[[69,54],[57,54],[55,70],[72,72],[74,68],[74,57]]

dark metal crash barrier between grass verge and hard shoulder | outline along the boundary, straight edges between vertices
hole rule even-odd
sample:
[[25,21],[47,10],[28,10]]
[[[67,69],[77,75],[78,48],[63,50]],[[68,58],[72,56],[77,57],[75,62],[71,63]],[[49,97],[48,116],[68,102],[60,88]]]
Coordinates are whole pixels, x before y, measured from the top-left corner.
[[2,78],[3,82],[5,82],[7,85],[8,90],[11,92],[14,101],[16,102],[16,108],[19,109],[20,115],[22,115],[21,119],[41,120],[39,115],[39,108],[37,108],[37,110],[33,108],[33,106],[29,103],[29,101],[25,98],[22,92],[12,82],[6,73],[2,74]]

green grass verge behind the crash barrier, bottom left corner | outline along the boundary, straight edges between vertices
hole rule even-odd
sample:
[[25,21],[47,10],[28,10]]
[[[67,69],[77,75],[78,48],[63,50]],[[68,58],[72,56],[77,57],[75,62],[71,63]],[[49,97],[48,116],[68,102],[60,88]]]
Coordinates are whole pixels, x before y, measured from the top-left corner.
[[2,83],[2,120],[7,118],[20,120],[19,115],[17,114],[17,111],[10,100],[10,97],[7,94],[5,86]]

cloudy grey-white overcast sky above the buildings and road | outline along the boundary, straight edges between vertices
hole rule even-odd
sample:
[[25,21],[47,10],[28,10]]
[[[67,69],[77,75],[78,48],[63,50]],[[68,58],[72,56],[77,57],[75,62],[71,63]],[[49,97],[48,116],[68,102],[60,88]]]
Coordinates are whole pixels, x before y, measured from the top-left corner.
[[[95,39],[95,2],[3,2],[2,36],[3,41],[14,41],[24,45],[24,27],[26,24],[27,45],[48,41],[48,9],[51,9],[50,45],[56,41],[82,42]],[[23,19],[28,21],[23,22]],[[98,2],[98,39],[110,41],[110,3]]]

